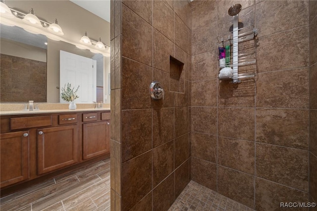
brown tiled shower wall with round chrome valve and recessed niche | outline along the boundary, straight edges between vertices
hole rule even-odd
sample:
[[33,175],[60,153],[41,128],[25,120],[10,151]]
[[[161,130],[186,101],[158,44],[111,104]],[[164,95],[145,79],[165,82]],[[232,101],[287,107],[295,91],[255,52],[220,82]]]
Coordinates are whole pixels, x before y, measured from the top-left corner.
[[[110,35],[111,210],[165,211],[191,173],[190,1],[111,0]],[[179,82],[170,56],[184,64]],[[164,100],[149,95],[155,80]]]

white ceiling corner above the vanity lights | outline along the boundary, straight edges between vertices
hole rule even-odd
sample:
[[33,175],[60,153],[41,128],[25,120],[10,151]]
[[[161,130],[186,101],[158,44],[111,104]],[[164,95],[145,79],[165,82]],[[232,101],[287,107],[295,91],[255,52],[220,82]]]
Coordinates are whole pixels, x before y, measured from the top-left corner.
[[71,2],[110,22],[110,0],[70,0]]

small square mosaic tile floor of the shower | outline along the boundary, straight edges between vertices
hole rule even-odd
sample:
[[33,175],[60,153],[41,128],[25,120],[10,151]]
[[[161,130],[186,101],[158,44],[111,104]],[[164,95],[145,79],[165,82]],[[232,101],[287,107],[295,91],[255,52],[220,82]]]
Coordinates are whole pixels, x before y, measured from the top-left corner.
[[168,211],[254,210],[191,180]]

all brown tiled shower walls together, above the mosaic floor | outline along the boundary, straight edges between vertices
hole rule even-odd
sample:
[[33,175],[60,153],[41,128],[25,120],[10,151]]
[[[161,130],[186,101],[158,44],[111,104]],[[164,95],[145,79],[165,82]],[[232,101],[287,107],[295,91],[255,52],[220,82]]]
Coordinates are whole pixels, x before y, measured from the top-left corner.
[[[233,3],[258,29],[238,85],[217,79]],[[316,202],[316,15],[314,0],[111,0],[111,210],[167,210],[190,180],[257,211]]]

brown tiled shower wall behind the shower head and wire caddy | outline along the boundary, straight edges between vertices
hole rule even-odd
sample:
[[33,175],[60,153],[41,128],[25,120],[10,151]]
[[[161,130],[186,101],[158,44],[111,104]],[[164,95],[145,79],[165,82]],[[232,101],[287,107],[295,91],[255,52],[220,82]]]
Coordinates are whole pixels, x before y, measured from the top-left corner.
[[232,28],[233,3],[191,2],[192,179],[257,211],[316,201],[317,1],[239,2],[239,22],[258,29],[239,45],[257,53],[257,67],[239,67],[256,77],[240,84],[217,79],[216,38]]

